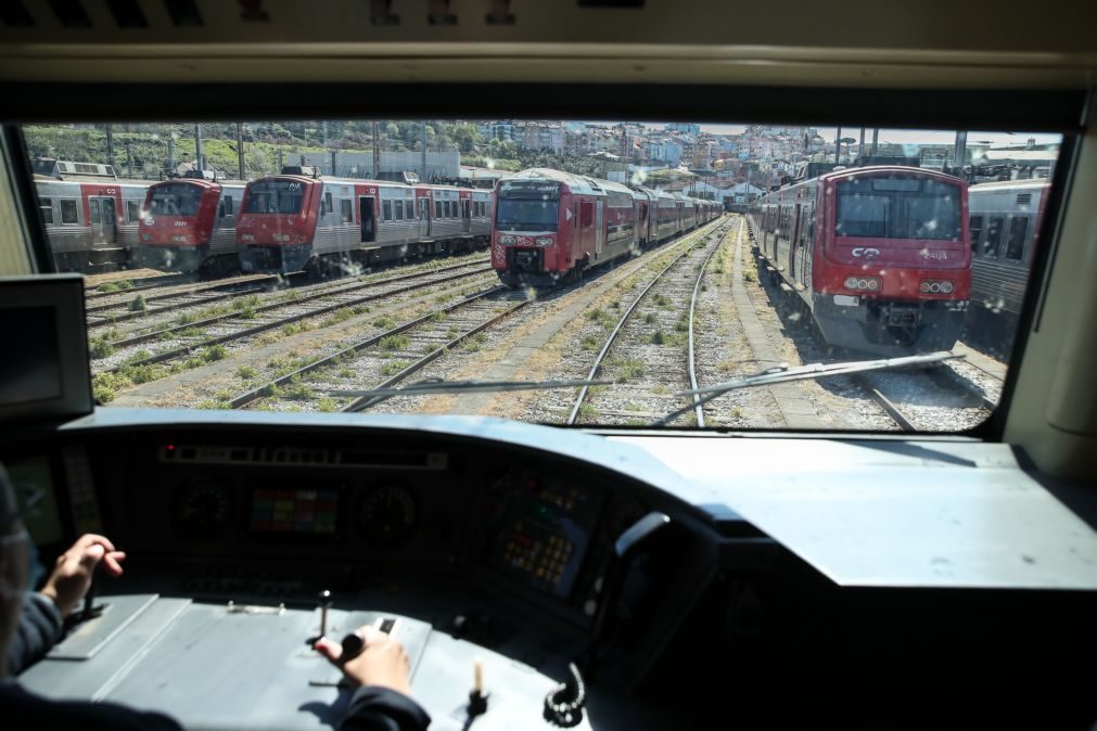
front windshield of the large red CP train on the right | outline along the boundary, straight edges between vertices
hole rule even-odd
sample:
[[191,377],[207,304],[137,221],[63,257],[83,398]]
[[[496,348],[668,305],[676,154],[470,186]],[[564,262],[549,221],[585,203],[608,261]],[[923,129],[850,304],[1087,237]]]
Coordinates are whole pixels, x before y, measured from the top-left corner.
[[836,236],[958,241],[960,189],[907,178],[838,183]]

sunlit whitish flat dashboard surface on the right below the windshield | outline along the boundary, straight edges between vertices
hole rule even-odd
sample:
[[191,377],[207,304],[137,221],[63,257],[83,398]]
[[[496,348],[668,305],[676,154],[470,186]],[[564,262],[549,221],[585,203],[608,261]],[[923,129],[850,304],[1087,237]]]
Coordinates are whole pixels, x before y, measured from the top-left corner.
[[1097,533],[1007,445],[613,436],[841,585],[1097,590]]

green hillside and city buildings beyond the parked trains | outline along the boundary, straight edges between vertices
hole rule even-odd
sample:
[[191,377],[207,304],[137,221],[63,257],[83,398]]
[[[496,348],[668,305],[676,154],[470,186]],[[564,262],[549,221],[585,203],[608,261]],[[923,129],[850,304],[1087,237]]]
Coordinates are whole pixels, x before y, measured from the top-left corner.
[[979,181],[1047,175],[1055,157],[1033,140],[993,148],[958,135],[954,145],[898,145],[861,128],[839,128],[826,138],[805,126],[738,129],[544,119],[298,121],[33,125],[23,134],[32,157],[103,162],[120,176],[146,180],[199,167],[251,179],[283,164],[309,164],[325,175],[404,180],[414,172],[428,181],[489,186],[510,171],[540,167],[739,205],[838,164],[916,164]]

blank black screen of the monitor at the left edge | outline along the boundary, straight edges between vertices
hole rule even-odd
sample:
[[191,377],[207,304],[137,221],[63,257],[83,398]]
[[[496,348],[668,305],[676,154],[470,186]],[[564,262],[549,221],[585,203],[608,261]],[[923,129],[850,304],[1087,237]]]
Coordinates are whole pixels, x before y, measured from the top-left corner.
[[0,342],[12,345],[9,356],[0,357],[0,403],[61,397],[53,307],[0,309]]

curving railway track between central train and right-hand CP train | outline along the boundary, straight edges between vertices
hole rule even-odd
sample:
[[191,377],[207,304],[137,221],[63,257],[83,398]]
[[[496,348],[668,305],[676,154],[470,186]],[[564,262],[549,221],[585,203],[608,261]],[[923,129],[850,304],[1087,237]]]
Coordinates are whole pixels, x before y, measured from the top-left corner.
[[[566,419],[567,424],[578,423],[592,413],[601,414],[599,423],[621,419],[651,420],[680,406],[680,397],[659,391],[667,391],[670,384],[690,384],[691,387],[697,385],[694,357],[697,298],[709,262],[730,229],[727,225],[722,226],[705,236],[701,242],[686,248],[633,299],[607,335],[587,376],[587,380],[595,380],[608,365],[612,365],[619,382],[614,386],[597,387],[599,391],[592,391],[587,386],[581,387]],[[690,267],[689,264],[693,266]],[[689,289],[689,307],[680,313],[677,321],[672,321],[668,317],[675,311],[671,302],[683,301],[685,290],[689,285],[692,285]],[[652,302],[654,308],[648,308],[641,320],[635,316],[644,302]],[[588,317],[597,318],[601,317],[601,313],[591,311]],[[615,355],[614,358],[609,357],[611,353]],[[637,386],[643,389],[642,393],[637,393]],[[697,397],[691,398],[694,403],[694,418],[699,424],[703,424],[704,414],[701,406],[697,402]],[[619,412],[615,407],[603,407],[602,412],[606,413],[599,412],[599,403],[612,406],[614,401],[621,400],[625,401],[624,412]],[[634,406],[633,400],[641,401],[643,407],[629,411],[627,407]]]

